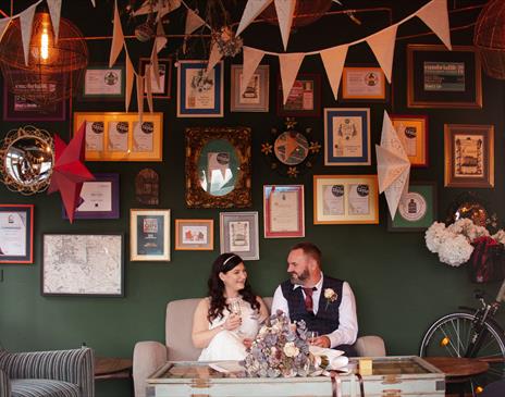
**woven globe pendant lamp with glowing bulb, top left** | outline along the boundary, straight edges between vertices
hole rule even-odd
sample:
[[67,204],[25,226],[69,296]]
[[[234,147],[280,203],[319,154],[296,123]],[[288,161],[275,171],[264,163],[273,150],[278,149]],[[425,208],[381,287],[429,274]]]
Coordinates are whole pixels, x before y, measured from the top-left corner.
[[88,50],[77,27],[60,17],[61,0],[35,13],[40,2],[2,20],[0,67],[11,92],[45,107],[76,94]]

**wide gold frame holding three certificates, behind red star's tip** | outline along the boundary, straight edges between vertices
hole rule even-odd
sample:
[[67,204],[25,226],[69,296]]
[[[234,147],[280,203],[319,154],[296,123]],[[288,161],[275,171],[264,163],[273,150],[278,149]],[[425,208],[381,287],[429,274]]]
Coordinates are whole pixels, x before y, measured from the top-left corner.
[[75,112],[74,134],[86,122],[86,161],[162,161],[163,113]]

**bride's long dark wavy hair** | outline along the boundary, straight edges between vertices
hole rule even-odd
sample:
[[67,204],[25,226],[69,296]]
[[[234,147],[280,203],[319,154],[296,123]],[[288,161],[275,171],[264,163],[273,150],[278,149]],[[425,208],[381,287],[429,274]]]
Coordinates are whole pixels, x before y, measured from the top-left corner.
[[[212,263],[212,270],[210,272],[209,281],[207,285],[209,286],[209,296],[210,296],[210,307],[207,319],[209,322],[223,317],[223,310],[230,308],[226,305],[226,298],[224,297],[224,283],[219,277],[219,273],[227,273],[234,269],[239,263],[243,263],[241,257],[235,253],[221,253]],[[253,289],[249,285],[249,282],[246,280],[244,289],[238,291],[242,295],[242,298],[250,303],[253,309],[259,310],[259,303],[256,299],[256,294],[253,293]]]

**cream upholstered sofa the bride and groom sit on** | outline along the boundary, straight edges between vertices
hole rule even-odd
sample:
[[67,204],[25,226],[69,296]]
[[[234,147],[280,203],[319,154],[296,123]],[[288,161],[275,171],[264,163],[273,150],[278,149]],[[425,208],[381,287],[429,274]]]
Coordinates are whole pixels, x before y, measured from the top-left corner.
[[[272,298],[263,298],[270,308]],[[200,349],[193,346],[193,313],[200,298],[173,300],[167,305],[165,345],[159,342],[138,342],[133,352],[135,397],[146,396],[146,379],[168,360],[196,360]],[[385,356],[384,342],[379,336],[361,336],[356,342],[359,356]]]

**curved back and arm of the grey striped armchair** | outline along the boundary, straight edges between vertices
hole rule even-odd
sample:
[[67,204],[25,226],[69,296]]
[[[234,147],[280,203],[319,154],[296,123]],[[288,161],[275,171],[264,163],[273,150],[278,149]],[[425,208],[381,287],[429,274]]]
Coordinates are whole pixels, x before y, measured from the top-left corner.
[[83,396],[95,396],[95,355],[88,348],[8,352],[1,367],[10,379],[49,379],[79,386]]

